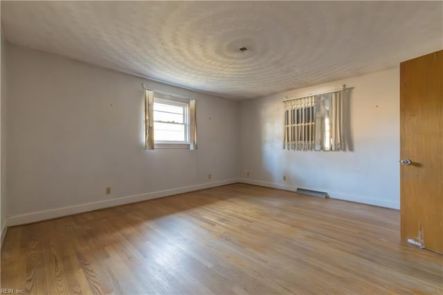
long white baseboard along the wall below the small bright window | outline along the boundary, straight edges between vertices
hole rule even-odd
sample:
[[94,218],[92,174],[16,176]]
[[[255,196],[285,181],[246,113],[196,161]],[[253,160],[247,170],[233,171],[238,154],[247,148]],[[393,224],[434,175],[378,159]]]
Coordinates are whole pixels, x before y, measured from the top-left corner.
[[[208,184],[197,184],[195,186],[184,186],[181,188],[173,188],[170,190],[159,190],[153,193],[147,193],[143,195],[133,195],[128,197],[120,197],[116,199],[109,199],[105,201],[92,202],[81,205],[74,205],[62,208],[56,208],[46,211],[38,211],[33,213],[26,213],[21,215],[14,215],[6,217],[6,225],[14,226],[19,224],[27,224],[31,222],[38,222],[41,220],[49,220],[52,218],[62,217],[66,215],[72,215],[76,213],[88,212],[102,208],[109,208],[124,204],[130,204],[135,202],[147,201],[148,199],[156,199],[159,197],[167,197],[170,195],[177,195],[181,193],[188,193],[194,190],[203,190],[205,188],[214,188],[216,186],[225,186],[227,184],[235,184],[238,179],[226,179],[222,181],[214,181]],[[6,231],[5,231],[6,232]],[[3,240],[3,230],[2,230]]]

